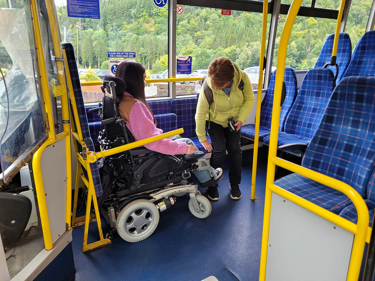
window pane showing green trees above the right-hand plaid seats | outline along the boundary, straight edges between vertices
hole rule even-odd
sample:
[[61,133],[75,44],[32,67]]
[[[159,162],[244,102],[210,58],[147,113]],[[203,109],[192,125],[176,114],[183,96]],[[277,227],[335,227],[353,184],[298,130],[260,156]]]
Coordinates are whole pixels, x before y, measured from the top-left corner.
[[[276,66],[281,33],[286,15],[281,15],[281,22],[276,31],[273,65]],[[287,49],[285,66],[294,70],[306,70],[314,67],[324,41],[335,32],[336,19],[297,16],[294,22]]]

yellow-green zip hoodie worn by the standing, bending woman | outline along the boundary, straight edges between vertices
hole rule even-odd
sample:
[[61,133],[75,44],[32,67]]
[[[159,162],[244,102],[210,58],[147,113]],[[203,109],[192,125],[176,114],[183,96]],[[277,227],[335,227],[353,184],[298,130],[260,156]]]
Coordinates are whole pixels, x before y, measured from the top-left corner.
[[[220,124],[223,127],[228,127],[226,122],[230,117],[233,117],[236,121],[240,120],[244,123],[246,118],[249,117],[255,100],[249,76],[245,71],[241,70],[236,63],[233,64],[236,73],[234,74],[229,97],[223,90],[213,89],[211,86],[211,78],[207,76],[207,84],[208,87],[212,89],[214,100],[210,106],[211,122]],[[241,79],[245,84],[243,87],[243,93],[238,88]],[[205,132],[206,120],[208,120],[208,102],[202,86],[195,114],[195,132],[200,142],[207,139]]]

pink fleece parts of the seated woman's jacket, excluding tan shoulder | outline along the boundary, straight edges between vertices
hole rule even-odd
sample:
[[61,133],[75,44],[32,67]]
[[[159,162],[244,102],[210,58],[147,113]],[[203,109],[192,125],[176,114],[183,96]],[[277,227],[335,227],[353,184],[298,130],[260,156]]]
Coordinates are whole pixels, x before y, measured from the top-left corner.
[[[124,95],[130,96],[124,92]],[[133,134],[135,141],[150,138],[163,133],[163,130],[156,128],[154,119],[150,111],[142,102],[136,102],[130,110],[129,122],[126,127]],[[176,142],[171,139],[162,139],[145,145],[145,148],[162,154],[175,155],[185,154],[187,150],[186,142]]]

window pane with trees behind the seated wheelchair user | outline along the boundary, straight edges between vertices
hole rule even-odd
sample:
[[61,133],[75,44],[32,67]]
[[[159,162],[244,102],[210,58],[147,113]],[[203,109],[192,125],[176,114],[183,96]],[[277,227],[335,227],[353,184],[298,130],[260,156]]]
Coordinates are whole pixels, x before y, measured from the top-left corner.
[[[100,19],[68,17],[66,0],[55,0],[63,42],[71,42],[78,57],[81,82],[100,81],[108,70],[108,52],[135,52],[146,69],[147,79],[168,69],[168,4],[153,1],[100,1]],[[77,45],[78,42],[78,45]],[[78,50],[78,55],[77,55]],[[168,74],[167,74],[168,77]],[[85,102],[98,102],[99,86],[82,87]],[[147,84],[147,97],[169,96],[168,83]]]

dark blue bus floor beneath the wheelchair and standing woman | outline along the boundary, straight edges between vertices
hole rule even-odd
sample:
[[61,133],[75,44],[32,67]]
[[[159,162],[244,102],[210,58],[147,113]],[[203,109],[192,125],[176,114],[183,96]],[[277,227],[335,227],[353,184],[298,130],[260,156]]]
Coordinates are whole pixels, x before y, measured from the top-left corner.
[[[229,196],[229,159],[219,182],[220,200],[212,202],[206,219],[189,211],[189,196],[177,197],[170,211],[160,214],[159,225],[147,239],[129,243],[117,233],[112,244],[82,253],[84,226],[73,229],[75,280],[258,280],[266,186],[266,149],[260,148],[257,186],[251,200],[252,150],[243,151],[242,198]],[[200,188],[203,195],[207,191]],[[81,210],[83,212],[83,210]],[[83,215],[83,214],[82,214]],[[104,234],[107,223],[102,219]],[[90,239],[91,236],[91,239]],[[90,223],[89,243],[98,227]]]

